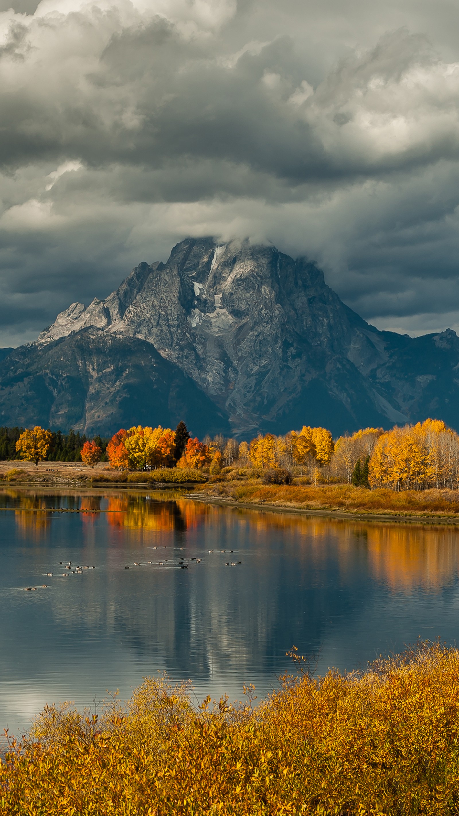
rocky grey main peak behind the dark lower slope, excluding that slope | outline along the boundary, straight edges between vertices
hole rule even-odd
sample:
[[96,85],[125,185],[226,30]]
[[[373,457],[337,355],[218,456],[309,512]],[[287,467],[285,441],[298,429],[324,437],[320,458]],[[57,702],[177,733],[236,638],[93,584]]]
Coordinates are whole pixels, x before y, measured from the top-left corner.
[[[64,339],[78,342],[83,353],[93,336],[89,329],[108,344],[100,351],[108,356],[107,371],[116,348],[118,360],[125,355],[127,377],[134,366],[130,354],[138,353],[134,346],[142,341],[142,353],[156,350],[157,359],[187,375],[206,405],[214,406],[214,427],[229,424],[239,437],[302,424],[339,433],[426,415],[459,422],[454,332],[412,339],[378,331],[326,286],[316,264],[294,261],[274,247],[188,238],[166,264],[140,264],[106,300],[95,299],[87,308],[72,304],[36,344],[10,354],[2,370],[14,367],[18,353],[25,368],[29,357],[38,365],[37,355]],[[134,346],[122,346],[128,339]],[[92,418],[74,427],[104,424],[112,410],[116,392],[104,386],[109,376],[102,371],[99,413],[86,407],[85,416]],[[10,388],[4,377],[0,371],[0,411]],[[85,393],[86,405],[89,385]],[[141,404],[139,395],[131,405],[132,422],[141,421]],[[60,427],[68,427],[63,421]]]

